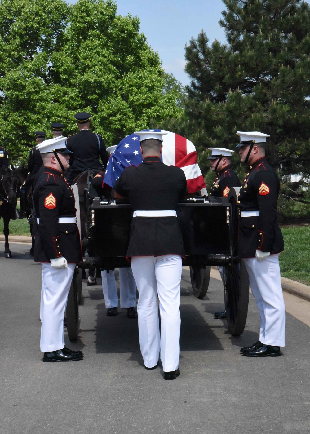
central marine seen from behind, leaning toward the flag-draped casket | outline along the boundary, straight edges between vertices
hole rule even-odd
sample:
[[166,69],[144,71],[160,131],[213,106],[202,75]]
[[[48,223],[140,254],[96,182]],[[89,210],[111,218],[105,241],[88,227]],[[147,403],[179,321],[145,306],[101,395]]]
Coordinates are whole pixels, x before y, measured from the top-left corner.
[[180,168],[161,161],[165,133],[135,134],[140,135],[143,163],[125,168],[114,188],[129,197],[133,210],[127,257],[139,291],[139,341],[145,368],[157,368],[160,351],[164,378],[173,380],[180,375],[181,257],[185,256],[176,210],[187,193],[187,182]]

